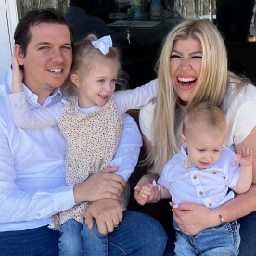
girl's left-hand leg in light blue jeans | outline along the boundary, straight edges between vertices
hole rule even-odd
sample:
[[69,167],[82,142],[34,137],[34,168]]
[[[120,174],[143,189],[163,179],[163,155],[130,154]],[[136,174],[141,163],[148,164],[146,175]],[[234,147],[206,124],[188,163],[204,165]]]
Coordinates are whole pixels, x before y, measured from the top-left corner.
[[61,237],[58,242],[60,256],[83,255],[82,228],[83,224],[74,219],[61,225]]

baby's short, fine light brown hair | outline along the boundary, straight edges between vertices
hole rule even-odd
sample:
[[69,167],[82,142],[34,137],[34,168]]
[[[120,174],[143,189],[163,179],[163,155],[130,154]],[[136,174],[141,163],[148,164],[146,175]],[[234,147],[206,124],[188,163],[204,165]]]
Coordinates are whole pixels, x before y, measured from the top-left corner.
[[224,111],[210,102],[200,102],[190,109],[187,109],[183,121],[183,134],[191,131],[195,124],[203,121],[211,128],[216,128],[220,132],[225,132],[226,121]]

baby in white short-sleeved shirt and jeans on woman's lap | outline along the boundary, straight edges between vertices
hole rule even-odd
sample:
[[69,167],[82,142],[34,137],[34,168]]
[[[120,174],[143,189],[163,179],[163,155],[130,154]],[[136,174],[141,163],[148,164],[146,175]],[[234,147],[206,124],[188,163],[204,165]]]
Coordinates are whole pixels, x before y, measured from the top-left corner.
[[[223,147],[226,136],[224,112],[208,102],[188,109],[183,122],[181,152],[166,164],[158,186],[160,198],[171,198],[174,205],[182,202],[203,204],[216,209],[237,194],[249,190],[252,182],[252,150],[243,148],[236,155]],[[145,201],[157,184],[141,187],[139,198]],[[233,191],[229,191],[231,188]],[[135,188],[138,189],[138,188]],[[237,255],[240,243],[237,221],[224,222],[197,234],[186,235],[182,226],[176,229],[176,255]]]

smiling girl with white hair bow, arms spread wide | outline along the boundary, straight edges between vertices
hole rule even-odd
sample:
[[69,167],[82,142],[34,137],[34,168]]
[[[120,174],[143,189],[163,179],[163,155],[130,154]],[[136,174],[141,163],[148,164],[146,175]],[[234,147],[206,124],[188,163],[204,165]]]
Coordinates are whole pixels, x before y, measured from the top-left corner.
[[[70,80],[63,89],[67,97],[46,109],[28,108],[22,75],[15,59],[13,62],[13,94],[9,98],[14,122],[24,129],[58,124],[68,145],[68,185],[80,183],[109,166],[122,132],[122,113],[147,104],[156,94],[155,86],[114,93],[116,83],[121,81],[121,64],[110,36],[97,40],[95,35],[89,35],[74,46]],[[61,69],[49,71],[58,73]],[[117,174],[127,181],[131,173]],[[126,209],[128,198],[129,188],[126,186],[120,201],[122,210]],[[84,202],[54,216],[50,227],[61,230],[61,255],[81,255],[82,251],[86,255],[103,255],[108,252],[108,235],[100,235],[96,228],[89,232],[84,224],[88,207],[89,203]]]

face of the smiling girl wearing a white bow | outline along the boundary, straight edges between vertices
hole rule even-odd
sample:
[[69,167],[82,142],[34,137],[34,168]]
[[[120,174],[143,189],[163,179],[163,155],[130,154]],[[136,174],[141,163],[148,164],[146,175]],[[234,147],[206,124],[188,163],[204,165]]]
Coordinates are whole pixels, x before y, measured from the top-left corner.
[[108,58],[92,59],[92,69],[83,75],[72,74],[78,87],[78,104],[81,108],[103,106],[115,90],[119,66]]

